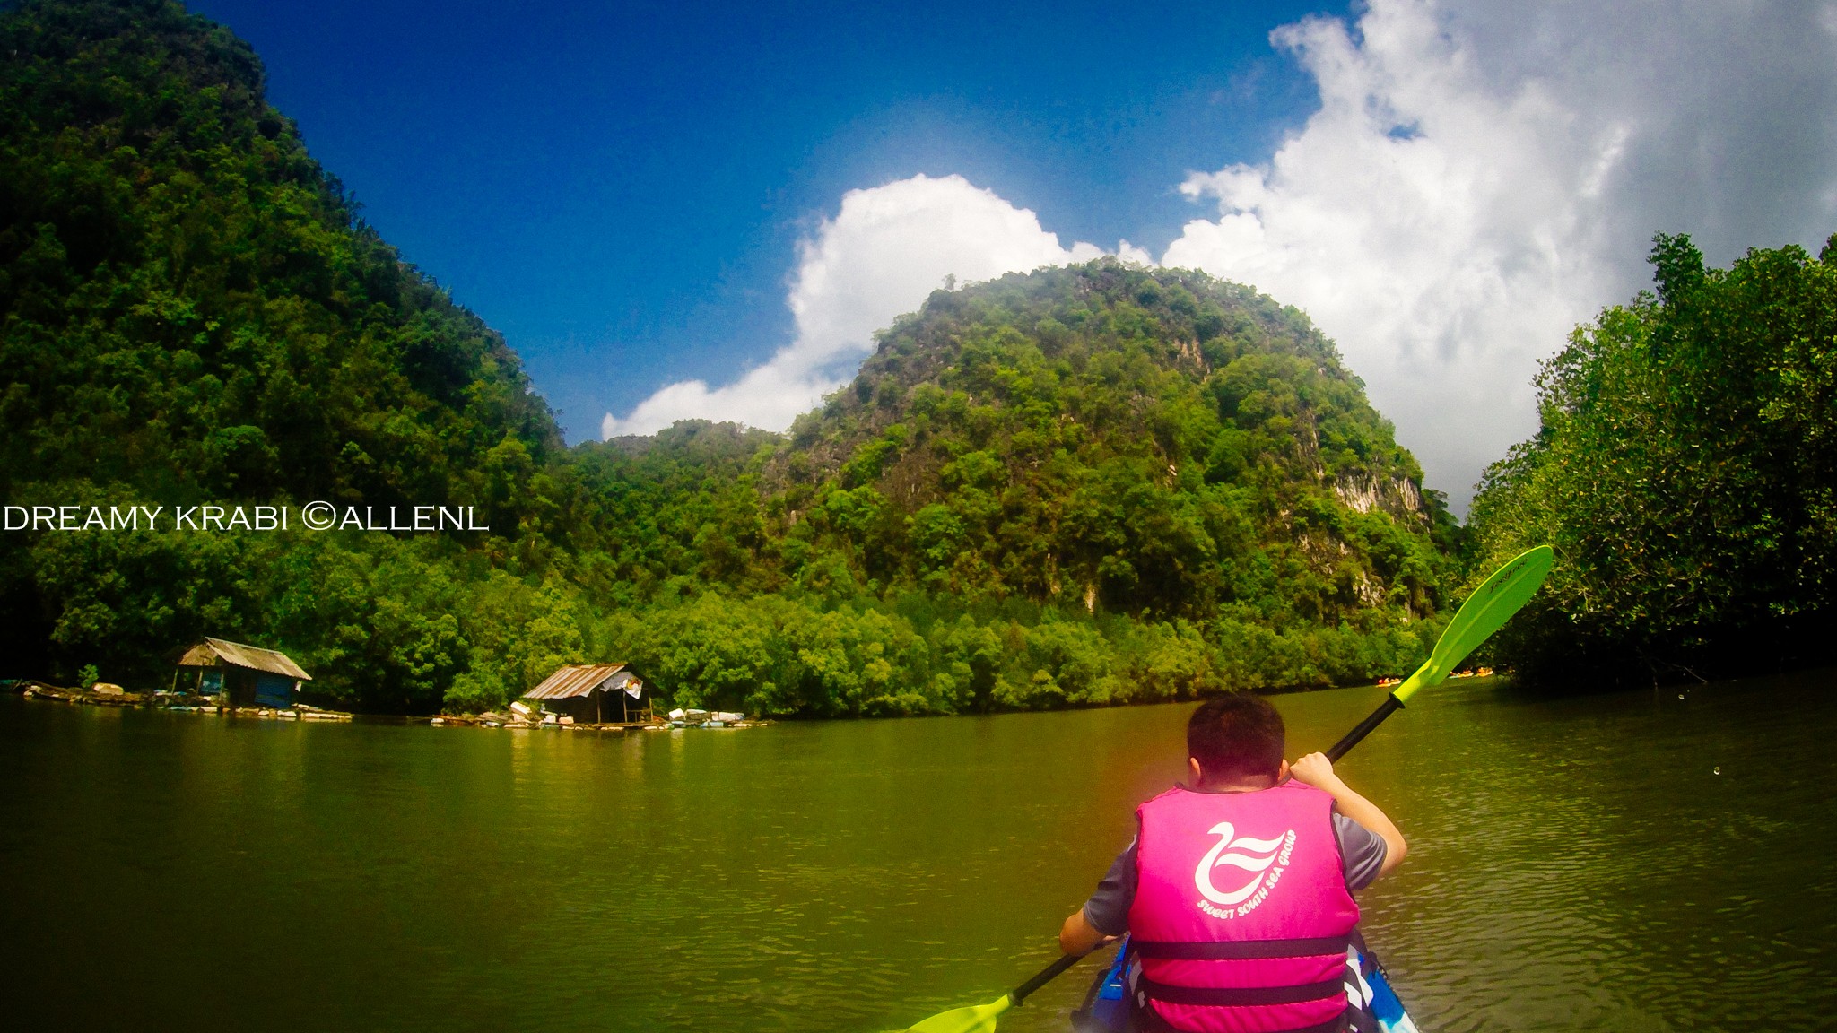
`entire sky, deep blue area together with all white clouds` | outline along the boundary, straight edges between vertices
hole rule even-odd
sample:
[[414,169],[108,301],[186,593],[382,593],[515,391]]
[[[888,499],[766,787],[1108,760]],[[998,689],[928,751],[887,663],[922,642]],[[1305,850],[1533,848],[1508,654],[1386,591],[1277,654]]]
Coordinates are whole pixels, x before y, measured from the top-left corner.
[[204,0],[569,441],[783,428],[946,274],[1117,254],[1304,309],[1457,513],[1538,362],[1837,230],[1837,0]]

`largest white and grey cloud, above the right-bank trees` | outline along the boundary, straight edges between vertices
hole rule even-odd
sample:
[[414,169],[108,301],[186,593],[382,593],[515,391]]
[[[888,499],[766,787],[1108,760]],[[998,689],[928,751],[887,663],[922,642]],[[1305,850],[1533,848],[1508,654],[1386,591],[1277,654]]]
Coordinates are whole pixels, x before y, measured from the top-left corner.
[[1271,37],[1321,110],[1161,255],[1299,305],[1466,507],[1536,428],[1530,377],[1650,281],[1653,232],[1727,263],[1815,244],[1837,187],[1831,6],[1370,0]]

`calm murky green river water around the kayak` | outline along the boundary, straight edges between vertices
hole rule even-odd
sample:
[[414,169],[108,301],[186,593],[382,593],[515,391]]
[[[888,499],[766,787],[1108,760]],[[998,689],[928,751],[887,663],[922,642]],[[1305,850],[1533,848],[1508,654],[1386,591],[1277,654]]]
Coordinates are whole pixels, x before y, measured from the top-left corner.
[[[1339,770],[1424,1033],[1837,1026],[1837,676],[1422,693]],[[1381,689],[1277,697],[1291,752]],[[999,996],[1189,706],[509,732],[0,698],[11,1029],[904,1027]],[[1001,1020],[1065,1029],[1088,961]]]

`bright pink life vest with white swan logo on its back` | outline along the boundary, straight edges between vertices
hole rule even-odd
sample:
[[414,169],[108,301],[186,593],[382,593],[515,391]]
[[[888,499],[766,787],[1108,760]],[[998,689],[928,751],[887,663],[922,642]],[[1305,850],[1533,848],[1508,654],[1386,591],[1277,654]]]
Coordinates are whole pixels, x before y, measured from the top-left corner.
[[1347,891],[1334,798],[1299,781],[1257,792],[1170,789],[1135,816],[1130,943],[1137,1004],[1174,1029],[1339,1029]]

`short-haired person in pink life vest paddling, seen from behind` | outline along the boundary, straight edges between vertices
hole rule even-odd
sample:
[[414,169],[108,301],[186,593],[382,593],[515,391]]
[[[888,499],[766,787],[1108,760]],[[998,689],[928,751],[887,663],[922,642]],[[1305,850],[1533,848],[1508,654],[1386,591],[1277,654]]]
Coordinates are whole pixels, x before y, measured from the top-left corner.
[[1352,891],[1409,847],[1324,754],[1284,761],[1284,739],[1262,697],[1201,704],[1190,783],[1135,811],[1135,840],[1060,928],[1067,954],[1130,934],[1137,1029],[1345,1027]]

